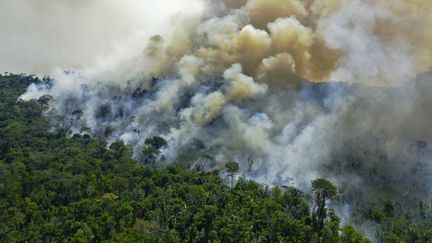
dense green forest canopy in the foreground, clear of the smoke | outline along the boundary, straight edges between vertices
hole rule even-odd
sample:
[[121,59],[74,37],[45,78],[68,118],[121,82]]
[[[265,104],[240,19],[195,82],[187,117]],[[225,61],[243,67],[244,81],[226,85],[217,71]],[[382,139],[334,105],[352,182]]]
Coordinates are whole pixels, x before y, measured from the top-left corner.
[[[43,101],[17,101],[32,82],[0,76],[0,242],[369,242],[328,208],[337,190],[324,179],[312,196],[234,185],[184,163],[154,168],[158,137],[146,141],[143,165],[121,142],[48,132]],[[232,179],[238,165],[225,170]],[[432,238],[426,216],[417,232],[392,205],[371,210],[385,242]]]

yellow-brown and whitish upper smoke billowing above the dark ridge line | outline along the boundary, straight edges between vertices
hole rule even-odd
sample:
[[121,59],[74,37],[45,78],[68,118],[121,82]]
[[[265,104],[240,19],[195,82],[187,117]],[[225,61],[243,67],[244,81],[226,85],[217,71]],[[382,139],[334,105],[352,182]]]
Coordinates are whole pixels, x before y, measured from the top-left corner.
[[381,85],[413,78],[432,64],[430,1],[224,3],[225,15],[206,18],[183,38],[192,45],[173,42],[190,47],[186,52],[204,60],[207,73],[219,75],[239,63],[260,82],[301,77]]

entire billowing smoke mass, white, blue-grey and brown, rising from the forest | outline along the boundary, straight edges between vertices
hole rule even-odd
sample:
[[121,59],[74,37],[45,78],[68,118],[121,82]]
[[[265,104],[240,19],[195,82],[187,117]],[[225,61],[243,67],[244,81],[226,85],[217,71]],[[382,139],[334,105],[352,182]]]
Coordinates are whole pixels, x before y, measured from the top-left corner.
[[[418,140],[432,139],[432,84],[420,76],[432,64],[432,2],[202,4],[130,56],[57,69],[22,98],[49,95],[54,127],[120,139],[137,159],[158,135],[168,161],[202,151],[214,168],[236,160],[268,184],[328,176],[356,186],[378,171],[430,192],[429,147]],[[418,166],[427,169],[411,173]]]

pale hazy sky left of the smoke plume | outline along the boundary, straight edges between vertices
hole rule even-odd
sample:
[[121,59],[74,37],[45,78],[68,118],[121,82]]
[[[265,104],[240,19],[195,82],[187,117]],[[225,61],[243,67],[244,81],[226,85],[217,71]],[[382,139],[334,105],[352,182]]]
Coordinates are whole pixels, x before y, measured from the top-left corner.
[[86,66],[197,11],[198,0],[0,0],[0,72]]

